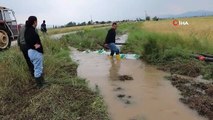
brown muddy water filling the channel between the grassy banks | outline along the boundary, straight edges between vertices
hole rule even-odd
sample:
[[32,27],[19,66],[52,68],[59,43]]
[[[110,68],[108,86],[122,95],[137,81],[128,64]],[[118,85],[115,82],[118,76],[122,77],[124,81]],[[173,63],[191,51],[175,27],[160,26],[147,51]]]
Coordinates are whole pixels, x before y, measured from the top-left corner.
[[179,91],[164,78],[167,74],[152,66],[76,50],[72,58],[79,63],[78,76],[100,90],[112,120],[205,120],[179,101]]

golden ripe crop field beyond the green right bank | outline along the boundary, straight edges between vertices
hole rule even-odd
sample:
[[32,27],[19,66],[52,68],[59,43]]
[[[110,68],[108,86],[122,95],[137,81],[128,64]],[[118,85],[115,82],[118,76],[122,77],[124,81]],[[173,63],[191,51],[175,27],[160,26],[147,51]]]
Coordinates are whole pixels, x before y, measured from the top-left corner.
[[187,21],[188,26],[174,26],[173,19],[145,22],[141,27],[151,32],[175,33],[182,37],[196,37],[199,40],[206,39],[212,42],[213,17],[180,18],[180,21]]

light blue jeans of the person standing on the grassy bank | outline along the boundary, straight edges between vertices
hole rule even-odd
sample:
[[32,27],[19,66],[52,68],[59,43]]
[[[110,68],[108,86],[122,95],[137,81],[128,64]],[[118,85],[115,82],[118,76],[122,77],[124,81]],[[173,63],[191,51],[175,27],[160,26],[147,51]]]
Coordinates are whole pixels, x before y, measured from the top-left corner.
[[43,54],[36,50],[29,49],[28,56],[34,66],[34,77],[41,77],[43,73]]

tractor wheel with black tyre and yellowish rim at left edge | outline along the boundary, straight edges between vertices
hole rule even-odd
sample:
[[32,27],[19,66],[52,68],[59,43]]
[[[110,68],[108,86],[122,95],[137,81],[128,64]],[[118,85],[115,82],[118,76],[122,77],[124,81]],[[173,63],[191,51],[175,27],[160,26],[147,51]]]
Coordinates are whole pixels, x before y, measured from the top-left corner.
[[11,45],[10,36],[5,28],[0,27],[0,50],[5,50]]

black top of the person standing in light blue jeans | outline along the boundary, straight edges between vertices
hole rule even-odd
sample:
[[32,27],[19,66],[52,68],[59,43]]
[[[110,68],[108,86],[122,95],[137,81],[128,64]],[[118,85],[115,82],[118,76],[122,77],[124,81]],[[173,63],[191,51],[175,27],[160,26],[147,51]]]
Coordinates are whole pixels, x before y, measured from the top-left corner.
[[[25,38],[26,44],[29,47],[29,49],[34,49],[40,53],[43,53],[43,46],[41,44],[41,40],[33,26],[26,27],[24,38]],[[40,47],[35,49],[35,46],[34,46],[35,44],[39,44]]]

